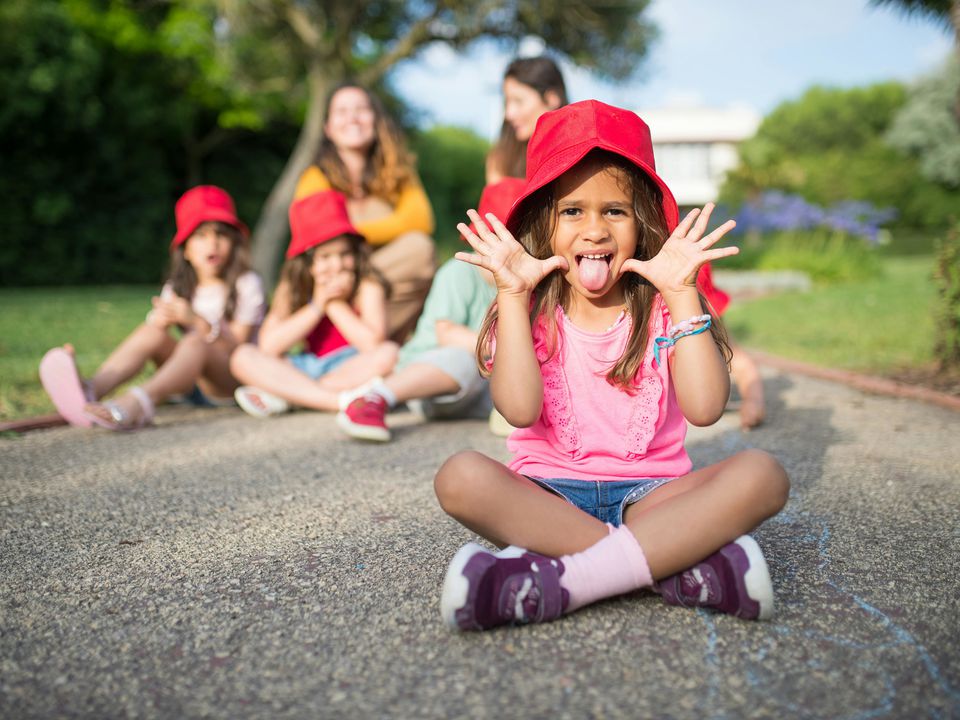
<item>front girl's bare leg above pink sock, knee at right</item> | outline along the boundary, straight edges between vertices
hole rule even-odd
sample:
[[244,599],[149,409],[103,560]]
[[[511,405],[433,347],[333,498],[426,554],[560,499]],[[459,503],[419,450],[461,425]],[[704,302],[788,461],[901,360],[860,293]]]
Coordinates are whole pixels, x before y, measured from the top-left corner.
[[657,488],[624,514],[650,572],[664,578],[775,515],[790,483],[771,455],[746,450]]

